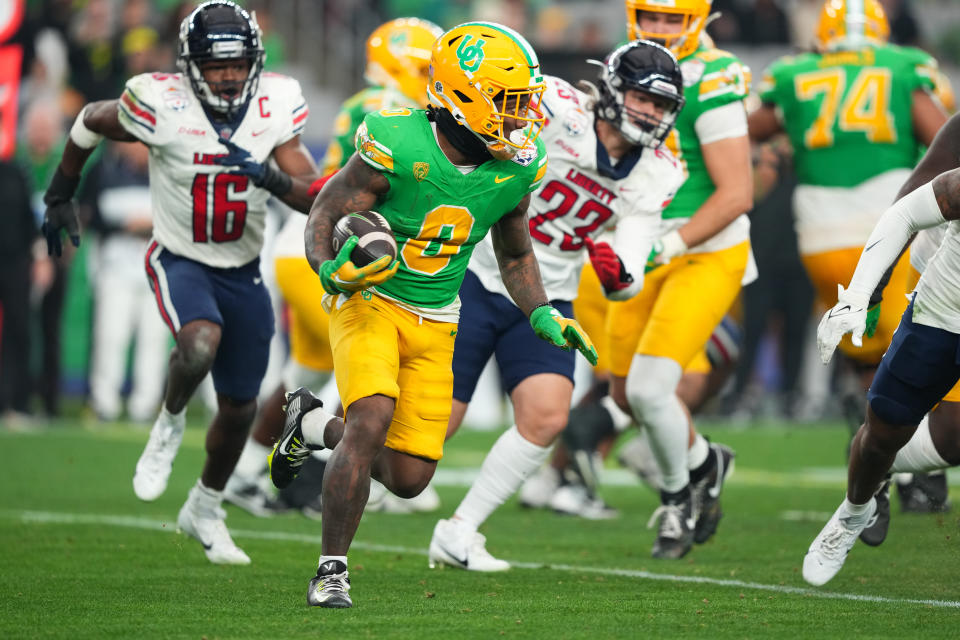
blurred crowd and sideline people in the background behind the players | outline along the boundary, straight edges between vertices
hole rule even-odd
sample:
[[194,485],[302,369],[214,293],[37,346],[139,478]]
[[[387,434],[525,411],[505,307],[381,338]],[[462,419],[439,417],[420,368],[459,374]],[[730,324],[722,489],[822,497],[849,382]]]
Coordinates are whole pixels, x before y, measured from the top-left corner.
[[[938,57],[958,76],[956,0],[882,0],[891,40]],[[81,189],[84,241],[63,259],[46,255],[38,227],[42,195],[60,159],[70,122],[87,102],[115,98],[143,71],[173,70],[179,24],[196,5],[177,0],[27,0],[0,24],[0,415],[31,424],[61,411],[64,396],[83,398],[92,415],[152,420],[159,405],[169,334],[142,272],[150,235],[145,148],[110,144]],[[545,72],[592,77],[625,35],[622,0],[274,0],[241,2],[257,12],[266,68],[303,85],[312,117],[304,134],[322,156],[342,100],[364,84],[364,42],[379,24],[418,16],[448,28],[495,20],[525,34]],[[708,28],[755,77],[776,57],[808,49],[822,0],[714,0]],[[18,20],[18,9],[22,15]],[[14,30],[15,29],[15,30]],[[16,72],[19,68],[19,74]],[[783,145],[755,152],[759,193],[751,213],[761,277],[738,305],[743,328],[738,370],[714,412],[737,419],[814,420],[839,411],[831,376],[812,338],[818,313],[797,255],[791,221],[793,178]],[[277,211],[279,223],[285,211]],[[267,249],[269,250],[269,248]],[[268,265],[270,261],[264,261]],[[269,278],[269,274],[265,274]],[[777,284],[780,283],[780,284]],[[783,283],[788,283],[783,286]],[[785,295],[784,295],[785,294]],[[277,310],[282,318],[282,309]],[[280,325],[282,326],[282,324]],[[283,359],[282,332],[276,353]],[[276,370],[276,371],[275,371]],[[274,385],[271,365],[265,390]],[[274,378],[275,380],[276,378]],[[478,424],[503,424],[496,387]],[[504,409],[506,410],[506,409]]]

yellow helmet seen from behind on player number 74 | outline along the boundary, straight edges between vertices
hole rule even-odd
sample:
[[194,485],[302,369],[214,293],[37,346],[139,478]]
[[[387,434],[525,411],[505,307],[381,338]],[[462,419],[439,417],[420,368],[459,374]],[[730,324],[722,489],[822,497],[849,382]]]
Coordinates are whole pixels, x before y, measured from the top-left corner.
[[878,0],[827,0],[817,23],[821,51],[886,42],[890,24]]

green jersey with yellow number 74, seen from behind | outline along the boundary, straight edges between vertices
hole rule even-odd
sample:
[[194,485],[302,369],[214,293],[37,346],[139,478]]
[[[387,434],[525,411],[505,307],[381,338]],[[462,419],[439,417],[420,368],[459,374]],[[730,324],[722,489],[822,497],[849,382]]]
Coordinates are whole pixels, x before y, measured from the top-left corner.
[[853,187],[916,163],[913,92],[933,89],[936,67],[894,45],[805,53],[774,62],[759,93],[782,113],[799,182]]

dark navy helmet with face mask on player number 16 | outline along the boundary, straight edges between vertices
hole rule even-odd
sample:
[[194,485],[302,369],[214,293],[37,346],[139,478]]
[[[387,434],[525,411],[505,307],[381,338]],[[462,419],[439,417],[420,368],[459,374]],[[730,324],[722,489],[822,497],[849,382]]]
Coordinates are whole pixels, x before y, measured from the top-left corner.
[[[197,99],[228,119],[245,108],[256,93],[263,61],[263,43],[256,19],[232,2],[206,2],[180,24],[177,66],[189,78]],[[247,67],[242,81],[238,78],[210,82],[204,74],[222,70],[226,75],[234,64]]]

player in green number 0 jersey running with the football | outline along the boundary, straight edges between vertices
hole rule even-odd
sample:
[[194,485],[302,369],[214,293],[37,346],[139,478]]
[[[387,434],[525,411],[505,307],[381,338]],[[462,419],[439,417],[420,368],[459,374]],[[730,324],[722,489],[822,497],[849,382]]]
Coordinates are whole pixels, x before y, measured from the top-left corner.
[[[330,295],[334,372],[346,418],[305,389],[289,394],[287,426],[271,477],[289,483],[311,448],[333,449],[323,482],[323,534],[307,602],[350,607],[347,552],[373,475],[401,497],[417,495],[443,455],[453,393],[458,291],[474,246],[491,232],[501,277],[537,336],[596,350],[550,305],[527,228],[530,194],[547,158],[538,140],[545,83],[530,45],[493,23],[466,23],[433,47],[426,110],[370,114],[354,154],[321,190],[307,221],[307,258]],[[334,254],[334,225],[375,210],[398,259],[367,267]]]

